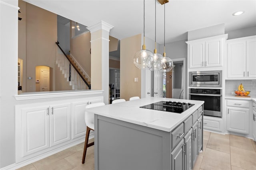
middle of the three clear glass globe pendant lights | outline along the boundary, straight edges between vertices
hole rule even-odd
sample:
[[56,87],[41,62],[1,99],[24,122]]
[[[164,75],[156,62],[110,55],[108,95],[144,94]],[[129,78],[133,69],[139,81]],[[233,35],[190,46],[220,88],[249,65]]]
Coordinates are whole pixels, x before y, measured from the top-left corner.
[[156,0],[155,0],[155,49],[153,56],[153,66],[150,68],[151,71],[159,71],[163,68],[163,63],[161,62],[163,56],[157,53],[156,50]]

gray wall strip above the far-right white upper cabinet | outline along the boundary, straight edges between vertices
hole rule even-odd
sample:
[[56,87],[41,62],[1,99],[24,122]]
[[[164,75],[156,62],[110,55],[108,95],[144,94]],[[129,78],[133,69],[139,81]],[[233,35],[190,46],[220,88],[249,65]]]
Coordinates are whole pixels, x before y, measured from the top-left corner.
[[225,33],[228,34],[228,39],[248,37],[248,36],[256,35],[256,27],[248,27],[248,28],[236,29],[233,31],[225,31]]

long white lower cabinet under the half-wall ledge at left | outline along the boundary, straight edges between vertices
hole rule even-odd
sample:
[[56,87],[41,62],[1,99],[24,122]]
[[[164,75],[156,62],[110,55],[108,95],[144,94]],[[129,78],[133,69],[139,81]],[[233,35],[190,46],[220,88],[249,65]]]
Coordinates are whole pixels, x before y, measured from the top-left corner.
[[94,102],[103,102],[103,97],[17,105],[16,163],[84,140],[84,109]]

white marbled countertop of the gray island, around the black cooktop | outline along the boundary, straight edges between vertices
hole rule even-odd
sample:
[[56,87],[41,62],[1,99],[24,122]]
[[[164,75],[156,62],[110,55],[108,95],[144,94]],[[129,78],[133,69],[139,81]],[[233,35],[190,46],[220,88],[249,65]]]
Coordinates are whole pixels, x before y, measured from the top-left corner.
[[[191,104],[195,105],[182,113],[171,113],[167,111],[140,108],[140,106],[145,106],[160,101],[190,102]],[[86,111],[137,125],[170,132],[202,104],[204,104],[204,101],[151,97],[94,107],[86,109]]]

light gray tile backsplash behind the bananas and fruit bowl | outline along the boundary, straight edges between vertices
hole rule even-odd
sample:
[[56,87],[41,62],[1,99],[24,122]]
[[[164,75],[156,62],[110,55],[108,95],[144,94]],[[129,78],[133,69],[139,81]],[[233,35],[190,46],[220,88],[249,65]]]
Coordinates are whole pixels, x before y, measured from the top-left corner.
[[237,90],[240,82],[242,82],[244,86],[244,90],[251,91],[249,96],[256,97],[256,80],[226,80],[225,94],[230,95],[231,92],[234,92],[234,90]]

